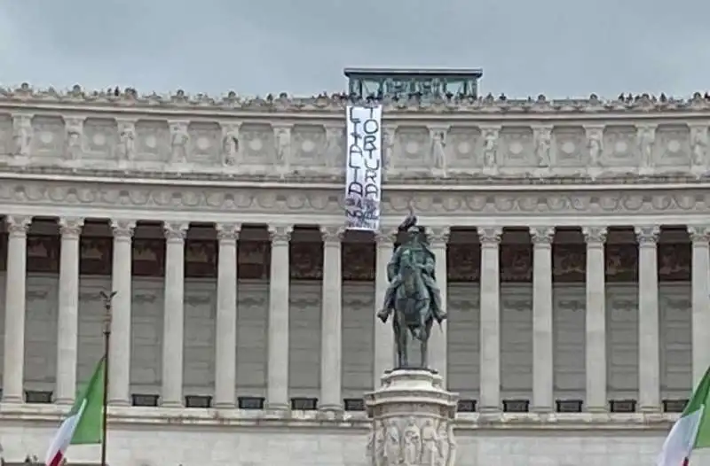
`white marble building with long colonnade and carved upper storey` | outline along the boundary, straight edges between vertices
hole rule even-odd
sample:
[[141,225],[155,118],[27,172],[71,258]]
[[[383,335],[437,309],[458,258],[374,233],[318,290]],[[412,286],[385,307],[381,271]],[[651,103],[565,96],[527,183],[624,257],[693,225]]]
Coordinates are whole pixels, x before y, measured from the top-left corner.
[[343,107],[0,89],[5,458],[43,454],[114,290],[112,466],[364,464],[412,205],[459,464],[651,462],[710,365],[710,102],[385,105],[377,237],[341,228]]

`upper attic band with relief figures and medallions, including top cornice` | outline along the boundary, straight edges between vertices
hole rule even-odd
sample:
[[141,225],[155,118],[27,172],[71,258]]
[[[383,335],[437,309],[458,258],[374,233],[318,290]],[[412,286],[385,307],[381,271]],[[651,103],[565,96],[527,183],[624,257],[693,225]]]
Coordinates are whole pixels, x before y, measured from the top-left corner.
[[[710,172],[710,101],[699,95],[416,96],[381,101],[385,182],[627,183]],[[347,105],[341,95],[139,96],[23,85],[0,89],[0,163],[25,173],[341,182]]]

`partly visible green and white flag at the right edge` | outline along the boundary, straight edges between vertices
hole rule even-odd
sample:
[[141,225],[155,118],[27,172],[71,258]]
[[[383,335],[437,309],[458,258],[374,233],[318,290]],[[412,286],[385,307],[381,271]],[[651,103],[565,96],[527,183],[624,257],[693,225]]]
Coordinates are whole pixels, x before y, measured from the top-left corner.
[[658,466],[688,466],[690,454],[698,448],[710,447],[710,369],[693,392],[663,444]]

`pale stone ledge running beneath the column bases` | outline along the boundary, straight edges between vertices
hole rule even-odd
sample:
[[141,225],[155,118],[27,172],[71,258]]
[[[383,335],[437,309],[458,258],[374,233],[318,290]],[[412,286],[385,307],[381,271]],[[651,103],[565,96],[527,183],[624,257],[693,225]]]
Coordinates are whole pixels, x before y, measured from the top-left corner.
[[[47,423],[56,425],[67,416],[68,407],[57,405],[4,405],[4,423]],[[108,408],[109,423],[115,425],[152,425],[177,427],[263,427],[267,429],[328,429],[367,431],[370,421],[364,412],[332,416],[319,411],[269,411],[201,408]],[[463,431],[667,431],[677,414],[591,414],[501,413],[480,415],[459,413],[456,429]],[[461,432],[461,433],[463,433]],[[465,433],[464,433],[465,435]]]

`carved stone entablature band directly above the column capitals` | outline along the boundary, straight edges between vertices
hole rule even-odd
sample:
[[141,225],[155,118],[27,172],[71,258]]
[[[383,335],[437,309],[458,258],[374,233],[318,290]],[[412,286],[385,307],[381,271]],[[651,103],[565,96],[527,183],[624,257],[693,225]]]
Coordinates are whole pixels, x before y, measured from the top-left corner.
[[[707,186],[635,186],[588,190],[421,190],[400,186],[383,195],[382,228],[397,226],[413,206],[422,224],[434,227],[705,225],[710,215]],[[255,183],[128,183],[3,180],[0,213],[150,221],[264,223],[279,215],[291,224],[343,224],[342,185]]]

